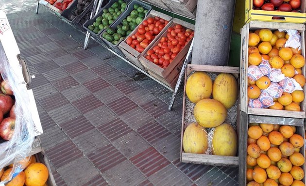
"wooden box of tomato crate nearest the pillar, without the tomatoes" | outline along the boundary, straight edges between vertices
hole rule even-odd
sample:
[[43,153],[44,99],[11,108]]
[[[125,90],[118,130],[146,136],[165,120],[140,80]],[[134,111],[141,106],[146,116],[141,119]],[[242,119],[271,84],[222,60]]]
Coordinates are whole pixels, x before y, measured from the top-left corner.
[[[193,24],[187,23],[187,22],[182,21],[182,20],[177,19],[177,18],[174,18],[169,26],[172,27],[172,26],[177,25],[177,24],[180,24],[185,28],[194,30],[194,25]],[[154,43],[155,45],[151,46],[150,48],[147,47],[148,50],[153,49],[153,47],[155,47],[159,43],[161,38],[163,36],[166,36],[166,35],[167,35],[167,30],[165,30],[162,33],[162,35],[160,35],[160,37]],[[144,53],[144,54],[140,55],[139,61],[141,62],[141,64],[145,67],[145,69],[148,71],[148,73],[151,76],[160,80],[162,83],[164,83],[165,85],[169,86],[171,89],[174,90],[174,87],[176,85],[177,79],[178,79],[179,74],[181,72],[183,63],[185,61],[187,52],[189,50],[191,41],[192,40],[190,40],[188,42],[188,44],[177,54],[177,56],[173,59],[173,61],[169,64],[169,66],[166,69],[163,69],[163,68],[159,67],[158,65],[156,65],[155,63],[147,60],[145,58],[147,53]]]

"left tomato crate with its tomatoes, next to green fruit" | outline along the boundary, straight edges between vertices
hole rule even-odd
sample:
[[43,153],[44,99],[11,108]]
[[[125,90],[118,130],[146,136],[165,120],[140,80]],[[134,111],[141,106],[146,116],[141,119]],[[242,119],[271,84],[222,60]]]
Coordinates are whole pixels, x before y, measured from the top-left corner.
[[171,16],[152,10],[130,36],[119,44],[119,49],[130,62],[145,70],[138,58],[154,45],[163,31],[168,29],[171,19]]

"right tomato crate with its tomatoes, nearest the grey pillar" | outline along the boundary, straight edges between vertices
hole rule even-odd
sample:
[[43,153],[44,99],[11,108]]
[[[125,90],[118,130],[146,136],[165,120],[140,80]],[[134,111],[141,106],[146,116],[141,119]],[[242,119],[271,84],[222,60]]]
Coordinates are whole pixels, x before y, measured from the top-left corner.
[[151,76],[174,89],[193,35],[193,24],[174,18],[139,61]]

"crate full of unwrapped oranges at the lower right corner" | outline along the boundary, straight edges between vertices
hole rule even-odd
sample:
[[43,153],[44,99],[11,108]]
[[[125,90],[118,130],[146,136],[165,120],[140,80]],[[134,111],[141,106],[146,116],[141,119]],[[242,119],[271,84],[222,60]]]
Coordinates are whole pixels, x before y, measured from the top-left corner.
[[304,120],[241,114],[239,186],[305,186]]

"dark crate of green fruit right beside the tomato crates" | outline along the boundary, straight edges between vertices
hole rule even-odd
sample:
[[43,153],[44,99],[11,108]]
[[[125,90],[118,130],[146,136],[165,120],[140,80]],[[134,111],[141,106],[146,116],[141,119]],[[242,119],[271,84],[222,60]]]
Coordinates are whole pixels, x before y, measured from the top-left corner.
[[125,39],[142,20],[148,15],[152,7],[142,1],[133,0],[128,4],[127,10],[105,31],[100,38],[115,52],[124,56],[119,50],[119,43]]

